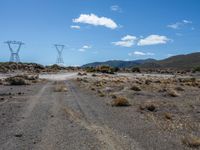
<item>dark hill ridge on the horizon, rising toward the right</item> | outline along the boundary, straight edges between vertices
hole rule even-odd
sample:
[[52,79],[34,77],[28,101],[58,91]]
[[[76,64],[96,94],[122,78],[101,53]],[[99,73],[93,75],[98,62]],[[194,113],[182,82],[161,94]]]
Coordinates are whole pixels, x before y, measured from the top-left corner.
[[107,65],[111,67],[119,68],[130,68],[130,67],[141,67],[141,68],[174,68],[174,69],[192,69],[200,66],[200,52],[176,55],[163,60],[155,59],[144,59],[134,61],[121,61],[111,60],[106,62],[94,62],[85,64],[82,67],[96,67],[101,65]]

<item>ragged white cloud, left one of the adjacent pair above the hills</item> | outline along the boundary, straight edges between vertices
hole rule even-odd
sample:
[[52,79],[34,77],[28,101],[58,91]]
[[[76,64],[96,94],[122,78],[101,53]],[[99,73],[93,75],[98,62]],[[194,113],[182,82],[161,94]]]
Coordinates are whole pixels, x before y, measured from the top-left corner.
[[121,38],[121,41],[112,42],[112,44],[116,46],[122,46],[122,47],[131,47],[135,44],[136,40],[137,40],[137,37],[132,36],[132,35],[126,35]]

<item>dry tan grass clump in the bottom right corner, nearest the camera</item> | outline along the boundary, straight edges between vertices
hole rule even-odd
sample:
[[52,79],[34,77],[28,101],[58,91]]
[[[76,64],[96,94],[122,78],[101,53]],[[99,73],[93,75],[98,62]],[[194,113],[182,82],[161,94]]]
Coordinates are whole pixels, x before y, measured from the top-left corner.
[[200,147],[200,138],[193,135],[184,137],[182,139],[182,142],[188,147],[193,147],[193,148]]

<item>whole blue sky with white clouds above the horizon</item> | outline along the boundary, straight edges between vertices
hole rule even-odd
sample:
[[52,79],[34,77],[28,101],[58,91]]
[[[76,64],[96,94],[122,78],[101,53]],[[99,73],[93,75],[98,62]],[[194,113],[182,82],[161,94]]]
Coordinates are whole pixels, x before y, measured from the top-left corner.
[[66,65],[163,59],[200,51],[199,0],[0,0],[0,61],[7,40],[23,41],[21,61]]

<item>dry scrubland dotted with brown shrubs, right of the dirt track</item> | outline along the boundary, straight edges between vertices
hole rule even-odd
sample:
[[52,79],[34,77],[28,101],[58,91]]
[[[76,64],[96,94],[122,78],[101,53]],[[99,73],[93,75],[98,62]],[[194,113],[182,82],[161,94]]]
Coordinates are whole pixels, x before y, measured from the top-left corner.
[[[111,107],[126,107],[156,126],[157,132],[175,134],[186,147],[199,147],[200,79],[193,76],[113,76],[93,73],[77,82]],[[124,108],[122,108],[124,109]],[[121,109],[120,109],[121,110]],[[135,112],[133,111],[135,110]],[[184,138],[182,138],[184,137]]]

